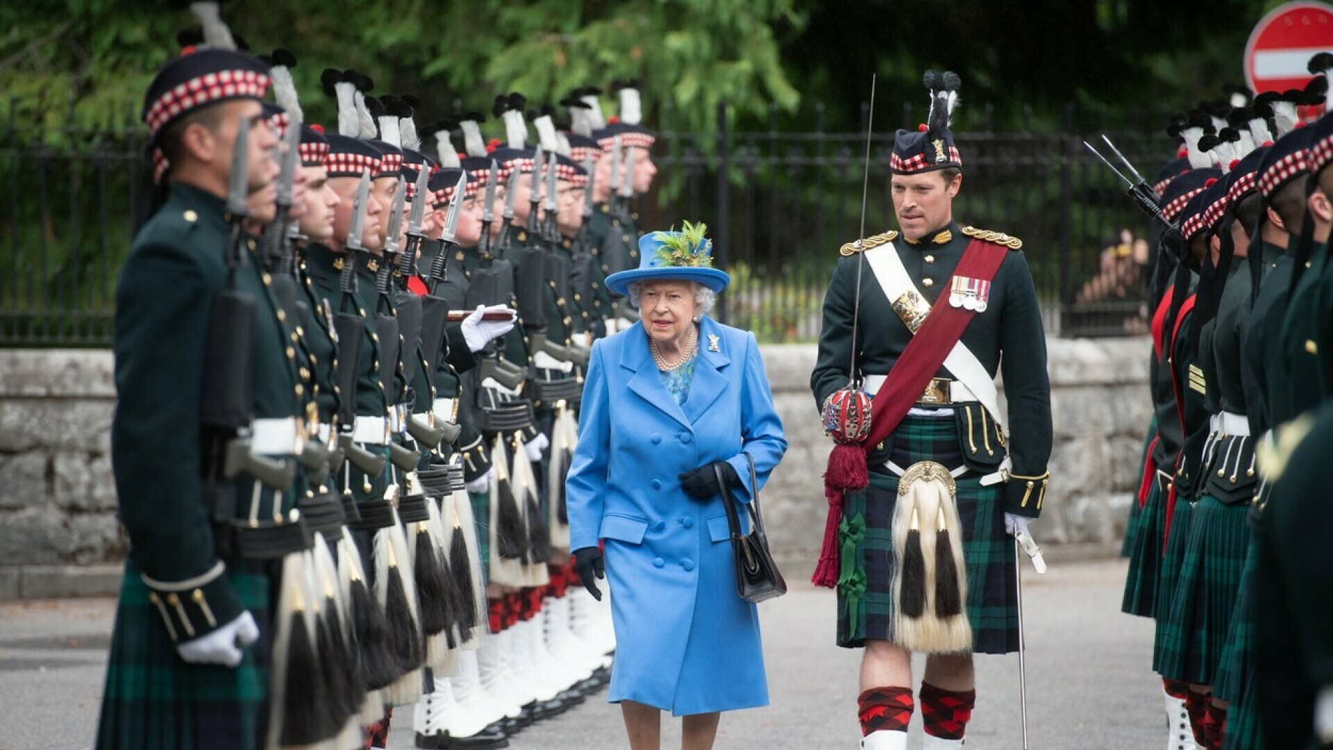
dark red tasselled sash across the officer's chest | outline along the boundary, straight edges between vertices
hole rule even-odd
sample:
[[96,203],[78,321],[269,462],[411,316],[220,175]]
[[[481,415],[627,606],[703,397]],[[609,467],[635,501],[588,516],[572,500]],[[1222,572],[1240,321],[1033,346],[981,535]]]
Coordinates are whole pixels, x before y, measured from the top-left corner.
[[[890,251],[897,252],[892,248]],[[1000,271],[1000,264],[1008,252],[1006,247],[974,239],[962,251],[953,275],[989,283]],[[824,472],[824,495],[829,502],[829,514],[824,523],[824,550],[810,578],[816,586],[828,589],[837,586],[840,567],[837,526],[842,519],[842,492],[869,484],[865,454],[897,430],[908,410],[920,400],[926,384],[940,372],[944,359],[953,351],[953,346],[962,338],[962,331],[976,314],[973,310],[949,304],[948,296],[948,292],[944,292],[934,302],[921,328],[908,342],[876,392],[870,410],[870,434],[860,446],[837,444],[829,452],[828,470]]]

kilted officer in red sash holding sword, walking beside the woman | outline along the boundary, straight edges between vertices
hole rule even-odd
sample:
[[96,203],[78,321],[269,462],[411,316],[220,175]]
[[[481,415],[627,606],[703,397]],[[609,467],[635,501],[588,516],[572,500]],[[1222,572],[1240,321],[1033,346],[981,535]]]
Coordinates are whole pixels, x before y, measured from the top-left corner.
[[[897,132],[890,164],[902,235],[844,246],[810,376],[825,424],[846,424],[857,408],[849,384],[878,394],[877,406],[901,394],[893,402],[901,408],[874,415],[878,430],[889,427],[882,442],[872,424],[869,438],[854,436],[864,448],[846,442],[830,456],[829,526],[816,570],[817,585],[837,586],[837,643],[865,649],[857,709],[861,747],[873,750],[906,747],[913,651],[926,654],[922,747],[962,746],[976,699],[972,653],[1018,647],[1009,534],[1025,532],[1041,512],[1052,444],[1045,336],[1021,242],[953,220],[962,159],[948,119],[960,81],[930,71],[925,83],[928,124]],[[982,271],[977,258],[996,266]],[[970,315],[960,319],[961,334],[932,340],[930,318],[950,310]],[[930,350],[957,359],[936,367]],[[969,356],[974,370],[964,364]],[[914,370],[928,379],[924,392],[894,384]],[[998,371],[1008,419],[992,398]],[[869,470],[868,486],[854,479],[857,462]]]

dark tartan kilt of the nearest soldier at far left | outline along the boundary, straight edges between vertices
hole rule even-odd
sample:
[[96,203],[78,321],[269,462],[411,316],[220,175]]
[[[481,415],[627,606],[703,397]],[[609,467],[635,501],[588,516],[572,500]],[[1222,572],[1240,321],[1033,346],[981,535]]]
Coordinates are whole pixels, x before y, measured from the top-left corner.
[[176,654],[148,601],[139,566],[125,562],[107,663],[99,750],[259,750],[269,707],[271,598],[264,563],[232,560],[228,578],[259,625],[240,666],[191,665]]

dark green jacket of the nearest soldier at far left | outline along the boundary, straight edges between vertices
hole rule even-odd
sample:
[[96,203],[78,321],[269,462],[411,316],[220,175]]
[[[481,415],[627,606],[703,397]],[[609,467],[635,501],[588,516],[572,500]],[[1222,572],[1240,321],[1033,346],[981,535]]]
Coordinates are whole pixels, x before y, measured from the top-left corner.
[[[116,287],[116,392],[111,452],[119,516],[144,583],[179,601],[193,638],[236,619],[244,607],[215,550],[212,508],[201,476],[200,403],[213,300],[228,282],[225,203],[177,183],[135,238]],[[236,288],[257,307],[253,416],[300,414],[296,352],[284,334],[268,276],[249,250]],[[252,479],[239,479],[235,516],[251,512]],[[268,492],[265,507],[271,507]],[[292,498],[284,498],[284,506]],[[281,510],[287,510],[285,507]],[[183,614],[181,614],[183,613]],[[176,629],[181,639],[185,631]]]

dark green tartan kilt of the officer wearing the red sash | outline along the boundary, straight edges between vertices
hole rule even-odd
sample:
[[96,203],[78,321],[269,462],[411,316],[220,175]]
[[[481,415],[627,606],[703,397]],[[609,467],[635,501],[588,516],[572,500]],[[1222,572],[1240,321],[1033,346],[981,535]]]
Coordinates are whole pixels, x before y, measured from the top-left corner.
[[[893,432],[894,462],[940,460],[957,466],[957,427],[953,419],[906,416]],[[938,456],[938,458],[932,458]],[[968,619],[972,650],[1008,654],[1018,650],[1017,582],[1013,538],[1004,532],[1001,484],[982,487],[974,475],[957,479],[958,519],[962,523],[962,555],[968,569]],[[898,478],[870,472],[870,486],[848,492],[838,530],[838,646],[854,649],[866,641],[893,639],[892,581],[893,507]]]

